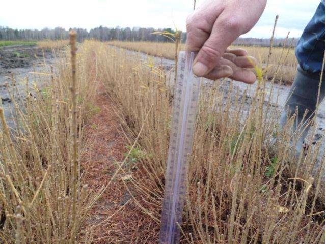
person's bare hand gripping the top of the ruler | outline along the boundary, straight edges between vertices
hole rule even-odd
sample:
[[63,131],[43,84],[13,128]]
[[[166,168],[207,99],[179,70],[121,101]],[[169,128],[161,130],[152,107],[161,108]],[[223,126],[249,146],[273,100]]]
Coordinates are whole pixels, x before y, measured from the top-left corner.
[[193,66],[197,76],[209,79],[230,77],[254,83],[255,74],[247,68],[255,59],[246,50],[227,49],[247,33],[260,18],[266,0],[208,0],[187,18],[187,51],[199,52]]

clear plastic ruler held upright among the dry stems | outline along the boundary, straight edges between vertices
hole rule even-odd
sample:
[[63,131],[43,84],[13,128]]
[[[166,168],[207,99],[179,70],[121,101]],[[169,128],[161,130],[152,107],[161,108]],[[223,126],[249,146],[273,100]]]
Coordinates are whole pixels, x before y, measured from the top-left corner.
[[165,179],[160,243],[179,243],[188,161],[195,132],[200,78],[192,72],[196,53],[180,52]]

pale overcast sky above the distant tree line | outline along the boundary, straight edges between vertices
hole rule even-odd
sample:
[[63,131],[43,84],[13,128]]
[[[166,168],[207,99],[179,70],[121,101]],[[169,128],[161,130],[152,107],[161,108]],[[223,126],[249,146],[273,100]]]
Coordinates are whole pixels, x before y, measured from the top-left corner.
[[[199,6],[203,0],[197,0]],[[257,25],[245,37],[268,38],[275,15],[280,16],[276,37],[300,37],[320,0],[268,0]],[[0,26],[11,28],[81,27],[177,27],[185,31],[185,19],[193,0],[3,0]]]

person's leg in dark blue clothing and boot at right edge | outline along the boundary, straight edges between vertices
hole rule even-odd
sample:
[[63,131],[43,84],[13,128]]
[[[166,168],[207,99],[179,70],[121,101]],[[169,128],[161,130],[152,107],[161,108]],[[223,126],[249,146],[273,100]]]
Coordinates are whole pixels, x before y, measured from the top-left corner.
[[[325,72],[321,72],[324,51],[325,1],[322,0],[296,47],[295,54],[299,65],[280,120],[283,128],[289,117],[296,116],[293,131],[300,134],[296,143],[297,151],[302,149],[316,106],[325,97]],[[321,73],[323,77],[317,104]]]

